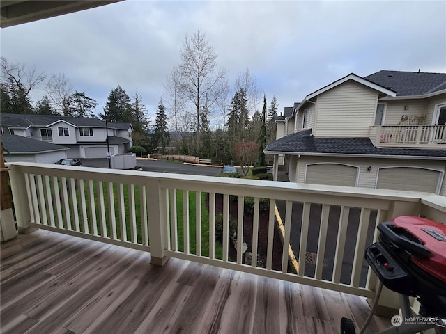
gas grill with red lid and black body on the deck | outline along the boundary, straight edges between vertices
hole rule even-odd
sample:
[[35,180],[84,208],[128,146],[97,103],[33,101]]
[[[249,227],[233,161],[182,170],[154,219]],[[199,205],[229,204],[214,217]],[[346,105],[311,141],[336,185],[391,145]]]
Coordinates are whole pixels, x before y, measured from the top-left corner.
[[[400,216],[380,223],[379,241],[367,248],[365,258],[382,285],[398,292],[402,317],[381,333],[417,333],[435,328],[446,333],[446,225],[426,218]],[[382,286],[380,285],[380,287]],[[367,327],[376,308],[380,289]],[[409,296],[420,301],[422,321],[410,311]],[[392,318],[393,319],[393,318]],[[395,326],[398,325],[398,326]],[[341,333],[353,334],[353,321],[342,318]]]

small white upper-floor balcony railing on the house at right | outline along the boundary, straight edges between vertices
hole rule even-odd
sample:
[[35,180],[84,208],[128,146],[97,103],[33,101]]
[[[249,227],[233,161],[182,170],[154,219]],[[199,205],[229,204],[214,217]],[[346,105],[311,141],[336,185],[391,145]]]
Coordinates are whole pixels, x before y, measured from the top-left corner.
[[370,127],[374,145],[446,144],[446,125],[383,125]]

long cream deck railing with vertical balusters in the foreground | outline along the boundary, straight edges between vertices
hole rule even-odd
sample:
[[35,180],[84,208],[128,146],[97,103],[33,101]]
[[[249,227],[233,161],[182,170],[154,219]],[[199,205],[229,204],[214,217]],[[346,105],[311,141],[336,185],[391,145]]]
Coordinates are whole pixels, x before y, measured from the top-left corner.
[[[436,220],[446,214],[446,198],[426,193],[46,164],[13,163],[10,168],[20,231],[44,228],[147,250],[155,264],[178,257],[367,297],[374,296],[376,278],[363,260],[364,250],[376,240],[376,224],[403,214]],[[241,252],[247,196],[254,197],[253,236],[247,240],[250,265],[243,264]],[[218,256],[215,216],[216,198],[221,197],[223,242]],[[237,198],[237,251],[231,259],[229,207]],[[270,203],[268,233],[261,233],[268,239],[264,267],[256,261],[260,198]],[[273,270],[277,211],[284,222],[282,266]],[[312,263],[306,261],[309,254]],[[290,255],[295,255],[294,273]]]

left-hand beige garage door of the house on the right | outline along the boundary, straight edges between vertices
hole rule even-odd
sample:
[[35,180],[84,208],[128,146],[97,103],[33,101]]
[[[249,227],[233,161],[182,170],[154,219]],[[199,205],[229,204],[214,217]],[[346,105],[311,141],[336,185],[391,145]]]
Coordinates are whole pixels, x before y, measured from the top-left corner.
[[307,165],[305,183],[356,186],[357,167],[341,164]]

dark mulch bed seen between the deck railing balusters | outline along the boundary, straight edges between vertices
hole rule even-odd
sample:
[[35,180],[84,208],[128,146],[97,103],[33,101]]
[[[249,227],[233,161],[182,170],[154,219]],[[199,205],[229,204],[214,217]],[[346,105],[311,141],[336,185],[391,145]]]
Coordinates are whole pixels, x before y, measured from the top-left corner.
[[[209,208],[209,197],[206,199],[206,206]],[[223,195],[215,194],[215,214],[223,212]],[[231,218],[238,218],[238,201],[229,201],[229,214]],[[252,251],[252,220],[254,214],[245,215],[243,219],[243,241],[247,244],[247,252]],[[266,252],[268,248],[268,220],[269,209],[259,213],[259,237],[257,241],[257,262],[261,267],[266,267]],[[274,228],[274,239],[272,243],[272,269],[282,270],[282,241],[277,228]],[[229,242],[229,257],[232,261],[237,259],[237,250]],[[260,264],[259,264],[260,267]]]

